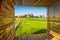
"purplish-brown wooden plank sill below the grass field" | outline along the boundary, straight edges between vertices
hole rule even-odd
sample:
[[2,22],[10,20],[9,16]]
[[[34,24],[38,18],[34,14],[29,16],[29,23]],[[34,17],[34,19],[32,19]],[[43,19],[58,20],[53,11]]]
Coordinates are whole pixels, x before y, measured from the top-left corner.
[[32,34],[27,36],[15,37],[14,40],[48,40],[47,34]]

